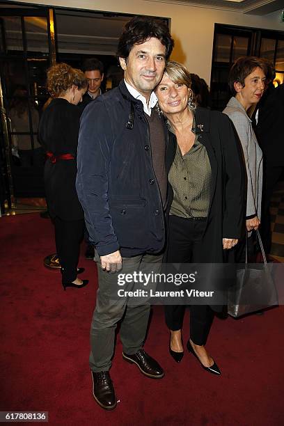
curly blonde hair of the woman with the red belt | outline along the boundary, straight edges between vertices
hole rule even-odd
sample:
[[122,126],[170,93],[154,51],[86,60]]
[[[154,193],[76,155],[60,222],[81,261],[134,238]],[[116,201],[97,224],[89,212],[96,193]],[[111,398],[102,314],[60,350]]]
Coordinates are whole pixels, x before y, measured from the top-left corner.
[[64,95],[72,86],[86,88],[88,80],[84,72],[67,63],[57,63],[47,70],[47,90],[52,97]]

